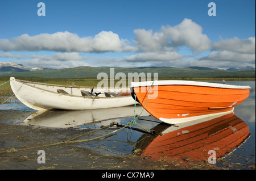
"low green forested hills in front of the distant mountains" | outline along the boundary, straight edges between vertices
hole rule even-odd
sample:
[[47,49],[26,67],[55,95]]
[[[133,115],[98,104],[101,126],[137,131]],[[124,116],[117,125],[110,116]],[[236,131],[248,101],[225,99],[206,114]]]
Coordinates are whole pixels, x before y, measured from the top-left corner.
[[[114,68],[114,75],[117,73],[158,73],[159,78],[181,78],[181,77],[216,77],[216,76],[254,76],[255,70],[247,71],[226,71],[220,69],[192,69],[192,68],[172,68],[172,67],[143,67],[143,68]],[[109,76],[110,67],[90,67],[80,66],[70,69],[26,71],[13,73],[0,73],[0,76],[19,77],[44,77],[44,78],[96,78],[98,73],[106,73]]]

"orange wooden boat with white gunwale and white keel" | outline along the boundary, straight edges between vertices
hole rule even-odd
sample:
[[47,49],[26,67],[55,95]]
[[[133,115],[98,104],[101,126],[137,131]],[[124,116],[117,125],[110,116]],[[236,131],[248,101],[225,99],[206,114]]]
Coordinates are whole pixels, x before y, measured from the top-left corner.
[[231,113],[250,86],[195,81],[131,82],[133,98],[152,116],[168,124]]

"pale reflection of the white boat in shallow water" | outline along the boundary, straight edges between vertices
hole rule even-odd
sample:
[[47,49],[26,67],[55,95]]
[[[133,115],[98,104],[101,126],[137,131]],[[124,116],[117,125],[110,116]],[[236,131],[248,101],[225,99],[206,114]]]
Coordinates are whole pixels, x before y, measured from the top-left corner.
[[[135,113],[138,115],[142,110],[142,106],[136,106]],[[141,116],[148,115],[150,114],[143,110]],[[80,111],[48,110],[32,113],[23,121],[23,124],[52,128],[75,128],[96,124],[100,121],[133,116],[134,106]]]

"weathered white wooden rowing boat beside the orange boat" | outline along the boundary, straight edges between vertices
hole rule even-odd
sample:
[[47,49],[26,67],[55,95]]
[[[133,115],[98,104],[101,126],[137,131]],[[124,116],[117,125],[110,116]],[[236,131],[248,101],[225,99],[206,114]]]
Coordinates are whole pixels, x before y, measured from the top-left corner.
[[92,110],[130,106],[134,99],[129,87],[122,89],[51,85],[10,77],[16,98],[34,110]]

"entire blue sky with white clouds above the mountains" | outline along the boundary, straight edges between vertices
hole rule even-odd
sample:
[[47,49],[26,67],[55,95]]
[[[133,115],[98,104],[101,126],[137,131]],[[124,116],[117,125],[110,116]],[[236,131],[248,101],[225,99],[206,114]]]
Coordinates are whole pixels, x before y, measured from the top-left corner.
[[7,61],[55,69],[255,67],[255,1],[3,0],[0,62]]

